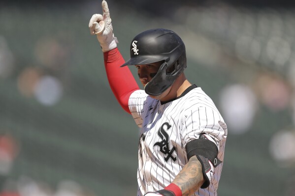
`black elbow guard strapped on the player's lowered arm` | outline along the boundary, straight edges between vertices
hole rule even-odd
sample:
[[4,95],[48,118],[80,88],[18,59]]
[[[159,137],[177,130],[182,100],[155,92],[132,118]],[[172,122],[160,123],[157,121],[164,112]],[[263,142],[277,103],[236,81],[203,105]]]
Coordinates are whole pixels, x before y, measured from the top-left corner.
[[[186,145],[188,160],[192,156],[197,156],[197,159],[202,165],[202,173],[205,182],[201,186],[202,189],[207,188],[210,184],[211,177],[214,173],[214,168],[216,168],[220,163],[222,163],[218,158],[218,148],[213,141],[204,139],[203,136],[200,139],[192,140]],[[209,163],[211,162],[211,165]],[[213,168],[214,167],[214,168]]]

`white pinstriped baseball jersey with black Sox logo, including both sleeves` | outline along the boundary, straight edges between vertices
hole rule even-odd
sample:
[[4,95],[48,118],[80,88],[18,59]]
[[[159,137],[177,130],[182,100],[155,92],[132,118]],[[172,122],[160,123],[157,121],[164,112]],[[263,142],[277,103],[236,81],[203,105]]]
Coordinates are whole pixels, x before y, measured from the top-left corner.
[[[140,127],[137,196],[169,185],[188,162],[186,144],[200,134],[216,143],[218,158],[223,161],[227,125],[200,87],[193,85],[179,98],[164,104],[144,90],[136,90],[129,98],[129,109]],[[217,196],[222,166],[214,169],[209,187],[198,189],[195,196]]]

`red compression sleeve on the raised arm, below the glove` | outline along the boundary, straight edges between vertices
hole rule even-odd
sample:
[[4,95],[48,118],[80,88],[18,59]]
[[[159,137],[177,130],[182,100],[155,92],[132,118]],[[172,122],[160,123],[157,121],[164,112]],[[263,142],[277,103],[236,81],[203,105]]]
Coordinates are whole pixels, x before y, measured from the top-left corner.
[[118,48],[103,53],[106,75],[111,89],[121,107],[131,113],[128,100],[132,92],[139,87],[128,66],[120,67],[125,60]]

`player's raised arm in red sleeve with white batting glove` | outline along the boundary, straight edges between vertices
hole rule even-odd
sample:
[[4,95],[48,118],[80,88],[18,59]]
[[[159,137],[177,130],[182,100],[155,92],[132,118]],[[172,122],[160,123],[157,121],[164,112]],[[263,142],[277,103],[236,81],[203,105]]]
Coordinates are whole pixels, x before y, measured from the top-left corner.
[[121,107],[130,113],[129,97],[139,87],[129,68],[120,67],[125,60],[117,48],[118,40],[113,33],[108,5],[105,0],[102,1],[101,5],[103,14],[94,14],[91,17],[89,22],[90,33],[97,35],[103,52],[106,75],[112,91]]

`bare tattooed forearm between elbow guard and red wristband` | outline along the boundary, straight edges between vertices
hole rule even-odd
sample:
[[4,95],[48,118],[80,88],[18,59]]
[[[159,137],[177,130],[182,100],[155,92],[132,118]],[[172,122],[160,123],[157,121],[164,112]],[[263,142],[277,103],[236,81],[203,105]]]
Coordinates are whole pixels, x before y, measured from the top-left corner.
[[203,182],[202,166],[197,156],[192,157],[173,180],[183,196],[193,195]]

